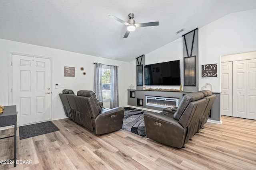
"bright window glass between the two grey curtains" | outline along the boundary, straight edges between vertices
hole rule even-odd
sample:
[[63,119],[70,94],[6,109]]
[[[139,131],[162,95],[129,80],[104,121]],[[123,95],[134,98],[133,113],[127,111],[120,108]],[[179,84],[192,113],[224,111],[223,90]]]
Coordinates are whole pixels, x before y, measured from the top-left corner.
[[110,100],[111,84],[110,84],[110,66],[102,66],[101,70],[102,83],[102,98],[103,100]]

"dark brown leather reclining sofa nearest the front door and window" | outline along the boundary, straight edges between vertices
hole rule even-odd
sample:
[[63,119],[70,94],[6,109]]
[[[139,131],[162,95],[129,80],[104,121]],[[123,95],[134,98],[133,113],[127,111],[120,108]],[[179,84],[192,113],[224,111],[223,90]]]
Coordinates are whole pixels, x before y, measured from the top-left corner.
[[80,90],[75,95],[72,90],[65,89],[59,96],[66,116],[96,135],[110,133],[122,128],[124,108],[108,109],[102,107],[102,102],[97,100],[93,91]]

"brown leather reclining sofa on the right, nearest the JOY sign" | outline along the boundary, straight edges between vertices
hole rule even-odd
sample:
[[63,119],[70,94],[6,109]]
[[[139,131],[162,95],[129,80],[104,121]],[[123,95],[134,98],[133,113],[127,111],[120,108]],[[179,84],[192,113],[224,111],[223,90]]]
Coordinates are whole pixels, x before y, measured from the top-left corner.
[[184,147],[206,123],[216,95],[210,90],[186,94],[178,107],[145,112],[146,137],[176,148]]

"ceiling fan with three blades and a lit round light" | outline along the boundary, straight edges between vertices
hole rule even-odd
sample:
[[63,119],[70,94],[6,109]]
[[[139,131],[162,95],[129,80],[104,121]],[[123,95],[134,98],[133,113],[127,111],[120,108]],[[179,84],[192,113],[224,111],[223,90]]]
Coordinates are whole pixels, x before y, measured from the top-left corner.
[[121,19],[119,19],[119,18],[117,18],[115,16],[112,16],[112,15],[110,15],[108,17],[113,18],[114,20],[119,21],[119,22],[123,23],[124,25],[127,25],[127,31],[124,34],[124,38],[127,38],[129,33],[131,31],[134,31],[138,27],[156,26],[159,23],[158,21],[157,22],[146,22],[146,23],[135,23],[135,20],[133,20],[133,18],[134,18],[134,14],[133,13],[130,13],[128,15],[129,20],[127,22],[124,21],[124,20],[121,20]]

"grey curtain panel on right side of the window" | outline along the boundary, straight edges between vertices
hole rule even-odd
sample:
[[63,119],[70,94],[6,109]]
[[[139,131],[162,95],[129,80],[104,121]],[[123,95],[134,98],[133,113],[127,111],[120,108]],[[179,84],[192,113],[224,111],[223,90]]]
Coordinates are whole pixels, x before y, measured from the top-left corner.
[[118,66],[110,66],[111,98],[110,109],[119,107],[118,98]]

